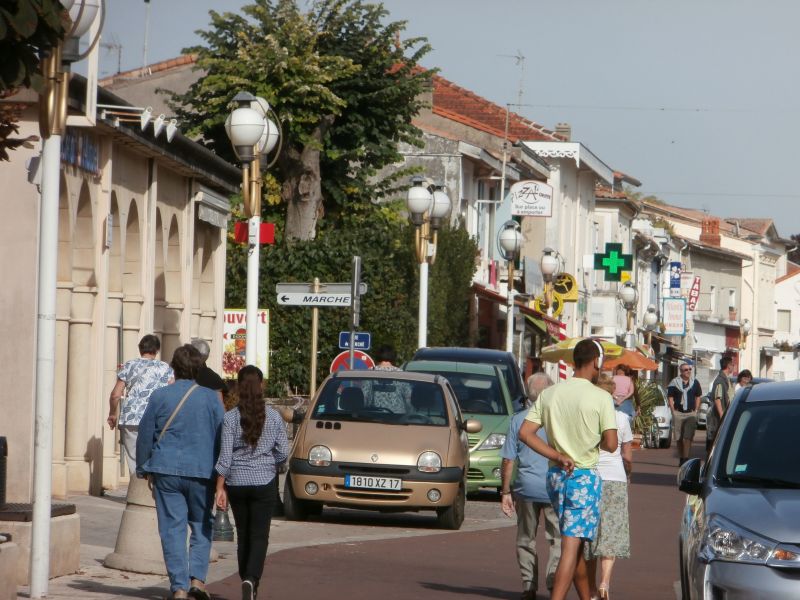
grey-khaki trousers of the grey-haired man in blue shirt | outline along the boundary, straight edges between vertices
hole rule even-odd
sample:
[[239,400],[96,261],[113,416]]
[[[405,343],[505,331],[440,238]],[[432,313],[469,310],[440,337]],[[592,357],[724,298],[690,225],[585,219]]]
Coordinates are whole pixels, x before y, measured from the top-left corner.
[[536,554],[536,530],[539,519],[544,517],[544,534],[550,552],[547,557],[545,585],[553,589],[553,581],[561,556],[561,534],[558,531],[558,517],[549,503],[527,502],[514,498],[517,511],[517,563],[522,575],[522,587],[525,591],[539,588],[539,559]]

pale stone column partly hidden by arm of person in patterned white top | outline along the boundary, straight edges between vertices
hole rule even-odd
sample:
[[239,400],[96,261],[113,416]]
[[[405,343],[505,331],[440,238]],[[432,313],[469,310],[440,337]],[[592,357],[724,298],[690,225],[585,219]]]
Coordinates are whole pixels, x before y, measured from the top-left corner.
[[[103,357],[103,391],[101,411],[108,411],[108,396],[117,383],[118,365],[123,362],[120,352],[122,342],[122,294],[109,292],[106,300],[105,356]],[[116,488],[120,478],[119,430],[111,430],[103,419],[103,487]]]

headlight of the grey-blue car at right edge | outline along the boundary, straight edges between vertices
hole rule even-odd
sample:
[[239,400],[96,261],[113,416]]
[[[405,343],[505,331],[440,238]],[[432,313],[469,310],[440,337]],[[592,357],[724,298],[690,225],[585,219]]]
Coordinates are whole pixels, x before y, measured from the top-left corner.
[[719,515],[708,519],[701,556],[708,561],[724,560],[750,564],[765,564],[773,555],[777,543],[760,536]]

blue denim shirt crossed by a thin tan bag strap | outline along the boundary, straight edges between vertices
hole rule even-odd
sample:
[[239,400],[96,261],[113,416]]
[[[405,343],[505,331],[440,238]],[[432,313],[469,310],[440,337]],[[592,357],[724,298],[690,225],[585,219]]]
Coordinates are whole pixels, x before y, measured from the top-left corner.
[[224,415],[216,392],[202,386],[195,388],[158,441],[172,411],[194,384],[189,379],[179,379],[151,394],[136,440],[139,477],[146,473],[201,479],[215,476]]

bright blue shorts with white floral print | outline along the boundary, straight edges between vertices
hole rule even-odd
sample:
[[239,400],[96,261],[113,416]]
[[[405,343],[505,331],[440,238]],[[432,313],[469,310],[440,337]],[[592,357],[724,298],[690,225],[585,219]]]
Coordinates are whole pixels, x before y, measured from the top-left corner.
[[593,540],[600,524],[603,481],[594,469],[547,471],[547,495],[558,515],[561,535]]

